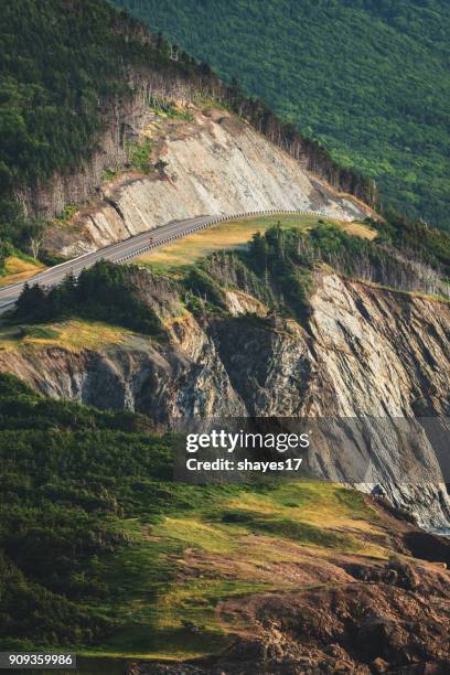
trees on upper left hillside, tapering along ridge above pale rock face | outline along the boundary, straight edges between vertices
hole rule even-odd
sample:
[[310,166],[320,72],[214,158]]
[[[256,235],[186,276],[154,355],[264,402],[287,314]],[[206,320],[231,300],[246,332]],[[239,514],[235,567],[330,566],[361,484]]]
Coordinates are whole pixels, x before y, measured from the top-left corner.
[[317,141],[205,63],[150,35],[105,0],[17,0],[0,26],[0,238],[39,255],[44,224],[18,202],[24,186],[81,168],[97,150],[107,109],[125,98],[212,97],[339,190],[375,205],[374,182],[342,169]]

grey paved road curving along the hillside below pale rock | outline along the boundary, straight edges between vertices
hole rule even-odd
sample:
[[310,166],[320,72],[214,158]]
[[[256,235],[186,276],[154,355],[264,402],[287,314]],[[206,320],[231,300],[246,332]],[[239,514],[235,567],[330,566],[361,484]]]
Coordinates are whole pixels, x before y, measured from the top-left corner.
[[168,244],[169,242],[172,242],[173,239],[185,237],[192,232],[204,229],[225,221],[235,221],[236,218],[250,216],[287,214],[323,215],[315,211],[259,211],[251,213],[238,213],[229,216],[203,215],[195,218],[186,218],[185,221],[172,221],[171,223],[167,223],[160,227],[154,227],[153,229],[142,232],[141,234],[130,237],[129,239],[125,239],[124,242],[111,244],[110,246],[106,246],[105,248],[100,248],[94,253],[85,254],[84,256],[79,256],[73,260],[67,260],[66,262],[61,262],[61,265],[55,265],[54,267],[31,277],[26,281],[6,286],[4,288],[0,289],[0,314],[12,308],[26,282],[30,285],[39,283],[40,286],[50,288],[60,283],[64,277],[69,274],[77,277],[83,269],[92,267],[98,260],[126,262],[127,260],[136,258],[144,251],[151,250],[152,248],[158,248],[164,244]]

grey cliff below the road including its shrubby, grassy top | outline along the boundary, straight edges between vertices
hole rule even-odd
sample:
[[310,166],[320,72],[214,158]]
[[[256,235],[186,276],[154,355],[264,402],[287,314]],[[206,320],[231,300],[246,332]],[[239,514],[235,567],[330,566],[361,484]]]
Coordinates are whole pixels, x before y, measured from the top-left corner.
[[[22,322],[34,312],[47,323],[4,329],[0,368],[56,398],[137,410],[162,429],[213,416],[342,418],[345,461],[324,438],[313,468],[346,481],[343,468],[355,453],[372,458],[373,469],[354,482],[366,490],[382,483],[419,523],[447,527],[450,502],[437,484],[444,480],[416,418],[437,418],[440,428],[449,414],[448,302],[344,279],[326,267],[289,271],[287,249],[275,240],[277,248],[275,267],[255,238],[254,255],[268,256],[259,276],[233,255],[213,256],[184,280],[131,267],[121,272],[126,292],[117,268],[100,266],[46,303],[30,297],[28,311],[21,303]],[[369,268],[371,249],[364,250],[358,245],[349,259]],[[64,319],[77,313],[81,324]],[[108,332],[93,319],[124,328]],[[353,417],[410,420],[397,460],[383,429],[355,446],[345,422]],[[403,484],[408,471],[411,485]]]

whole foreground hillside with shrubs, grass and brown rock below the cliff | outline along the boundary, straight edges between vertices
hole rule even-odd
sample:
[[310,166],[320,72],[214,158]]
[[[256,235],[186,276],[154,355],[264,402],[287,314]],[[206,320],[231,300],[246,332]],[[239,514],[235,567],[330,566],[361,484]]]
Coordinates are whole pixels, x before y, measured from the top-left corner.
[[172,452],[0,376],[4,649],[89,675],[448,667],[446,542],[330,483],[175,483]]

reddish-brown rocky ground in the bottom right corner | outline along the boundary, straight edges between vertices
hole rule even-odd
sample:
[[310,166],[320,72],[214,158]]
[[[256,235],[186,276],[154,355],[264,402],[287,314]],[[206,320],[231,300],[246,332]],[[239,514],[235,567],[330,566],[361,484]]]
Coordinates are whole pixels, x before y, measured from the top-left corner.
[[[395,532],[396,524],[392,527]],[[400,556],[382,562],[339,554],[332,560],[315,555],[296,566],[292,592],[218,602],[222,624],[236,626],[234,642],[221,654],[178,664],[138,662],[127,673],[448,673],[450,579],[444,567]]]

